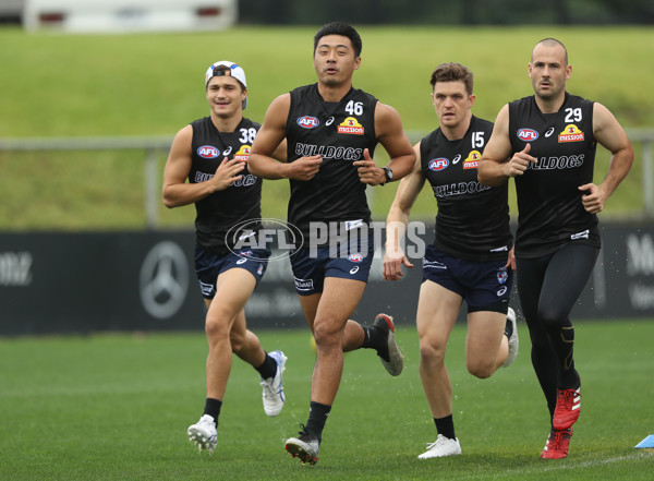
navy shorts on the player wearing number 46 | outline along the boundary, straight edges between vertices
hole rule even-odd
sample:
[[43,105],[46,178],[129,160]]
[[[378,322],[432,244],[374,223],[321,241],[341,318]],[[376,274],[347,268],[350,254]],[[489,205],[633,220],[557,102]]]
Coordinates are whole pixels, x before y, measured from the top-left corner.
[[[331,250],[331,252],[330,252]],[[302,248],[291,253],[295,291],[300,296],[323,292],[325,277],[340,277],[367,282],[375,254],[375,237],[367,245],[361,240],[335,248]]]

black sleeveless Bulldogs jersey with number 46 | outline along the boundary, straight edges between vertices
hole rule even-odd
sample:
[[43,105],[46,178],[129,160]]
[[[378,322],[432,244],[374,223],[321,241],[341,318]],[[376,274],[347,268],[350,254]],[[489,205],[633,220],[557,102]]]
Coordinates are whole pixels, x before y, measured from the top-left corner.
[[359,180],[352,163],[363,159],[364,148],[374,154],[377,99],[351,88],[339,103],[328,103],[319,95],[317,84],[295,88],[290,95],[288,161],[319,154],[323,164],[310,181],[291,179],[289,221],[305,239],[312,221],[362,219],[370,224],[366,184]]

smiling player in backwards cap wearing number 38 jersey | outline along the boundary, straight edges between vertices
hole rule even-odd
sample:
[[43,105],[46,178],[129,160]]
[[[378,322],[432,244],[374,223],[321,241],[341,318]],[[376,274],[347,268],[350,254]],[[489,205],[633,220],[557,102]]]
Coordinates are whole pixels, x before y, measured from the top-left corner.
[[[245,303],[270,255],[259,239],[252,241],[261,229],[262,181],[250,173],[247,161],[259,124],[243,117],[245,71],[220,61],[207,69],[204,80],[210,115],[174,136],[164,171],[162,200],[169,208],[195,204],[197,212],[195,273],[207,308],[209,352],[205,408],[186,434],[201,452],[213,452],[233,356],[258,372],[267,416],[277,416],[283,408],[281,375],[287,357],[279,350],[266,352],[245,320]],[[275,156],[286,158],[284,146]],[[249,235],[241,235],[243,224]],[[249,242],[241,244],[242,239]]]

